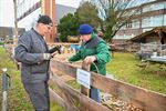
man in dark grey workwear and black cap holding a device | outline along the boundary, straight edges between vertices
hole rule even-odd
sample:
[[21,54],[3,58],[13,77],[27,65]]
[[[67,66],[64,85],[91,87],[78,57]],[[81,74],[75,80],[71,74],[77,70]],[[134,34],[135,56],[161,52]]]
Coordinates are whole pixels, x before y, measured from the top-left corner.
[[49,53],[44,36],[51,33],[52,20],[40,16],[35,28],[24,32],[15,48],[15,60],[21,62],[21,80],[37,111],[50,111]]

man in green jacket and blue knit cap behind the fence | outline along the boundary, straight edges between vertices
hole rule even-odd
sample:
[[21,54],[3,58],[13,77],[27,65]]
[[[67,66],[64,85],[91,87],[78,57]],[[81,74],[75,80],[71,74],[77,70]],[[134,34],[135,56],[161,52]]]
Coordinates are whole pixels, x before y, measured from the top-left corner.
[[[80,26],[79,33],[83,41],[82,47],[75,56],[69,59],[69,61],[74,62],[83,60],[85,63],[91,64],[91,71],[105,75],[106,63],[111,58],[106,42],[93,33],[93,28],[86,23]],[[90,98],[96,102],[101,102],[100,90],[91,87]]]

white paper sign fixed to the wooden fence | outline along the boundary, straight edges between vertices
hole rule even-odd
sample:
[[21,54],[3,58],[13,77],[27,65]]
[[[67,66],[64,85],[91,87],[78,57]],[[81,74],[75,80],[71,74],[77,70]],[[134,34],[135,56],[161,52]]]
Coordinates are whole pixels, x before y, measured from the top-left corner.
[[84,85],[84,87],[90,89],[90,85],[91,85],[91,83],[90,83],[90,81],[91,81],[91,73],[85,71],[85,70],[77,69],[76,70],[76,81],[80,84],[82,84],[82,85]]

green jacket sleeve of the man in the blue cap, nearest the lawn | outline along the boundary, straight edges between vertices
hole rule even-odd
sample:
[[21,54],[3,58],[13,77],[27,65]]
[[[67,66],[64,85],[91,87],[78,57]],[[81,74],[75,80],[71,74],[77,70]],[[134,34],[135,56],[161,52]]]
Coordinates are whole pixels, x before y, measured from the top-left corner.
[[110,51],[105,42],[96,46],[96,60],[98,63],[107,63],[111,60]]

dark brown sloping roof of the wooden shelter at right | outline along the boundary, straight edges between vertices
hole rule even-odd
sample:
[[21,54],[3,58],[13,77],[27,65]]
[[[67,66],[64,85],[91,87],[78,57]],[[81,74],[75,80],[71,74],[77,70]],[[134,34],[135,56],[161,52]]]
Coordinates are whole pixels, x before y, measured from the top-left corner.
[[148,38],[149,36],[155,36],[155,34],[156,34],[156,37],[160,38],[160,33],[165,34],[165,38],[166,38],[166,27],[156,27],[149,31],[143,32],[142,34],[127,40],[127,42],[128,41],[142,42],[143,39]]

